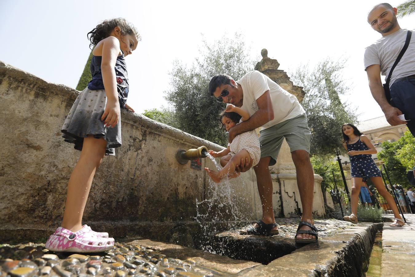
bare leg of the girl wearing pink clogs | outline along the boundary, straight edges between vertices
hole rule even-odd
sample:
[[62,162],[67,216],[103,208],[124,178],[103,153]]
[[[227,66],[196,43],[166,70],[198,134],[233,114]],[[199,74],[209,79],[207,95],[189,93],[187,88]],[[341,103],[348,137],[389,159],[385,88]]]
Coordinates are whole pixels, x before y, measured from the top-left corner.
[[81,230],[83,211],[92,180],[104,158],[106,147],[107,141],[103,138],[96,139],[91,135],[84,138],[81,156],[69,178],[63,228],[72,232]]

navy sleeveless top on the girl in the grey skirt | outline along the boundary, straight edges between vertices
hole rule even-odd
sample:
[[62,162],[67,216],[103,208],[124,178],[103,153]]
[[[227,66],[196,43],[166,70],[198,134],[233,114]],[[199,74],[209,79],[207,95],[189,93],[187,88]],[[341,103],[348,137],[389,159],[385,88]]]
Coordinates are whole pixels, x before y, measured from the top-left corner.
[[[102,56],[92,56],[90,65],[92,80],[88,83],[88,88],[91,90],[104,89],[103,74],[101,72],[101,62]],[[118,56],[117,60],[115,61],[115,75],[117,78],[117,92],[118,100],[120,101],[120,107],[125,108],[125,103],[127,102],[127,96],[129,91],[129,85],[127,66],[125,64],[124,59],[124,52],[122,52],[122,55]]]

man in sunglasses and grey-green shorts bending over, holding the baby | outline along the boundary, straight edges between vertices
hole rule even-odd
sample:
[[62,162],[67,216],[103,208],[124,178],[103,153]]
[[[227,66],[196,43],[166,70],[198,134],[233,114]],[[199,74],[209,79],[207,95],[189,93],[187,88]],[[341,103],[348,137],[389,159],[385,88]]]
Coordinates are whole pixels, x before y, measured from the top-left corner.
[[[272,179],[268,166],[276,164],[278,152],[285,138],[295,164],[303,206],[295,242],[317,242],[318,233],[312,221],[314,175],[309,157],[311,132],[305,111],[297,98],[259,71],[248,72],[238,81],[226,74],[217,74],[209,83],[209,93],[218,102],[233,104],[251,116],[249,120],[229,129],[229,142],[243,132],[261,127],[261,159],[254,170],[262,203],[262,219],[249,228],[248,233],[278,233],[272,205]],[[252,161],[242,159],[237,170],[245,172],[251,166]]]

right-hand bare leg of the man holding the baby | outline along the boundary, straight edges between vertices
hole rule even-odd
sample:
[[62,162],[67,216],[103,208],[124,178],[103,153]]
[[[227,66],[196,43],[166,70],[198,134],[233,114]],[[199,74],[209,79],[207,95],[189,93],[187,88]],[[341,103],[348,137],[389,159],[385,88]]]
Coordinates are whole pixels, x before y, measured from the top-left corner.
[[[297,185],[300,191],[300,199],[303,206],[303,216],[301,221],[307,221],[313,224],[312,220],[312,202],[314,197],[314,172],[310,162],[310,155],[305,150],[295,150],[291,152],[291,157],[297,172]],[[311,230],[310,227],[303,225],[300,230]],[[297,239],[315,238],[310,234],[298,234]]]

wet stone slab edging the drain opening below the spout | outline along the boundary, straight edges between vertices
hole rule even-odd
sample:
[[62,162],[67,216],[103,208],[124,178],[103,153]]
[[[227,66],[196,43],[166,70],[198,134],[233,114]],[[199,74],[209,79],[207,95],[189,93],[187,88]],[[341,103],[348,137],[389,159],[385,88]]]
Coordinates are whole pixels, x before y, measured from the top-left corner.
[[[194,260],[196,266],[205,267],[214,275],[237,276],[364,276],[368,266],[372,243],[382,223],[359,223],[333,235],[320,238],[318,243],[295,245],[291,238],[239,235],[225,232],[215,235],[217,241],[227,243],[229,253],[263,257],[260,262],[234,260],[229,257],[186,248],[180,245],[135,240],[131,245],[143,245],[168,257]],[[233,248],[233,250],[232,250]],[[239,256],[235,253],[239,249]],[[232,251],[231,251],[232,250]],[[277,252],[277,253],[275,253]],[[276,259],[271,259],[266,255]],[[260,259],[257,259],[260,260]]]

